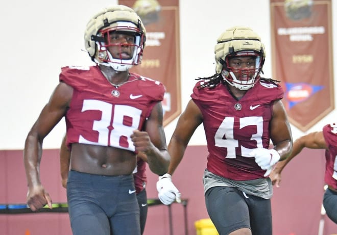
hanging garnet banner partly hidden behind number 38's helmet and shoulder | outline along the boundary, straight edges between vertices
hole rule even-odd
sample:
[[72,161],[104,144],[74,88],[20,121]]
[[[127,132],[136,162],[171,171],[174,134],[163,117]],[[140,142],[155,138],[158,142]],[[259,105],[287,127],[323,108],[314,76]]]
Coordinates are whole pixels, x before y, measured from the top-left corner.
[[146,28],[140,65],[130,71],[160,81],[166,87],[163,125],[181,113],[179,0],[119,0],[134,9]]

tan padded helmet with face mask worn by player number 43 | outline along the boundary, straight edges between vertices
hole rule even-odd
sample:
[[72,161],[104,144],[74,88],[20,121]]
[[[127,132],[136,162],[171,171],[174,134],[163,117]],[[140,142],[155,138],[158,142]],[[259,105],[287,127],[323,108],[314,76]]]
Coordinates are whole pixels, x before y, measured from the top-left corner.
[[[260,37],[247,27],[233,27],[225,31],[215,45],[216,73],[239,90],[252,88],[259,80],[266,54]],[[232,59],[239,66],[230,65]],[[249,60],[242,67],[240,60]],[[234,63],[235,64],[235,63]]]

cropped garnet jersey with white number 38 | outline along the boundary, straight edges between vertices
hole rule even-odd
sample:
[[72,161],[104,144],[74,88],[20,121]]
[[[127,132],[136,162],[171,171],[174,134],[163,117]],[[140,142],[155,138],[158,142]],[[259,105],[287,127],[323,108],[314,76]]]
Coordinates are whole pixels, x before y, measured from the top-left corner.
[[63,67],[60,81],[74,88],[65,115],[70,143],[113,146],[134,151],[130,135],[142,130],[165,88],[157,81],[130,73],[129,80],[113,86],[98,66]]

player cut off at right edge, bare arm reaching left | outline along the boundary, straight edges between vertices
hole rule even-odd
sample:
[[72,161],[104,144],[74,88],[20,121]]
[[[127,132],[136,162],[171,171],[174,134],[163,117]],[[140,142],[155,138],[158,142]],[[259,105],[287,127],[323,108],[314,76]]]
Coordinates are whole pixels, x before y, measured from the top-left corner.
[[270,174],[273,185],[280,187],[281,172],[303,148],[325,149],[325,183],[323,206],[326,215],[337,224],[337,123],[327,124],[321,132],[311,132],[295,140],[293,152],[284,161],[278,162]]

